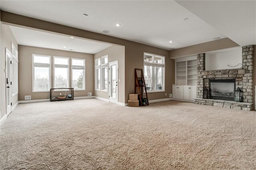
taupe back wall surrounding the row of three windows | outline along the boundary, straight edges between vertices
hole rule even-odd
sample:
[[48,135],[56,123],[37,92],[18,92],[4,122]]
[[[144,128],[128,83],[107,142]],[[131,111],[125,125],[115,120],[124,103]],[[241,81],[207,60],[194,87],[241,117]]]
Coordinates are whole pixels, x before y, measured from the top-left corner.
[[[94,95],[93,87],[93,71],[94,71],[94,59],[93,54],[87,53],[77,53],[71,51],[62,51],[56,49],[47,49],[39,47],[30,47],[25,45],[19,45],[19,101],[24,100],[25,95],[31,95],[32,100],[36,99],[50,99],[49,92],[34,92],[32,93],[32,54],[41,55],[51,55],[52,65],[51,65],[51,84],[53,87],[53,56],[61,57],[72,57],[72,58],[83,58],[86,59],[86,90],[85,91],[74,91],[74,97],[84,97],[88,96],[91,92]],[[71,60],[70,60],[71,62]],[[71,66],[69,70],[69,75],[71,75]],[[70,85],[72,80],[70,79]]]

